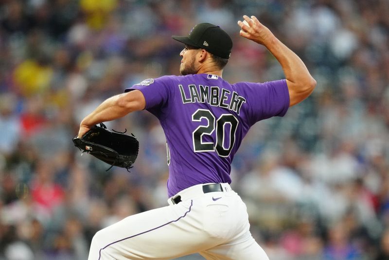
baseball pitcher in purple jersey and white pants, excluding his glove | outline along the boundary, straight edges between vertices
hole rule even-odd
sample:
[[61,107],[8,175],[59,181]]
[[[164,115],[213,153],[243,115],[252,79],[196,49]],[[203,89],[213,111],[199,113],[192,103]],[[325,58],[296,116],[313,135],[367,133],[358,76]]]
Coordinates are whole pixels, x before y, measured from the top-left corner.
[[182,42],[181,76],[148,78],[106,99],[86,116],[78,137],[94,125],[133,111],[154,114],[165,132],[168,205],[132,215],[98,231],[89,260],[267,260],[249,231],[244,202],[230,187],[242,139],[256,122],[283,116],[316,86],[301,59],[254,16],[238,21],[240,36],[264,45],[285,79],[230,84],[222,77],[232,40],[220,27],[197,24]]

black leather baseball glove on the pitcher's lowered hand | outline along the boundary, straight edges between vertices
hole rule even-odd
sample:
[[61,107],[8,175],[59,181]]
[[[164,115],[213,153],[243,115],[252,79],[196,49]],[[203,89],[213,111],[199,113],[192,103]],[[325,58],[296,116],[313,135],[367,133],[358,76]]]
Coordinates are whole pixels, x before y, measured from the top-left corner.
[[81,138],[74,137],[74,146],[113,166],[132,168],[139,150],[136,137],[124,132],[107,130],[103,123],[94,126]]

